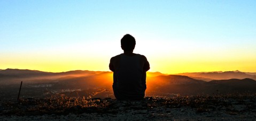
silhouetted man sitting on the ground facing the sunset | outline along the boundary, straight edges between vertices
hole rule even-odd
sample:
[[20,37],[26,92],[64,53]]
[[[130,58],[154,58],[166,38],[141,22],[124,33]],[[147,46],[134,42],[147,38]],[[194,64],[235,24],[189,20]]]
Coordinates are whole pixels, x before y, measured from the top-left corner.
[[118,100],[143,100],[146,90],[146,71],[150,65],[145,56],[133,53],[136,41],[126,34],[121,39],[123,53],[110,59],[113,72],[113,92]]

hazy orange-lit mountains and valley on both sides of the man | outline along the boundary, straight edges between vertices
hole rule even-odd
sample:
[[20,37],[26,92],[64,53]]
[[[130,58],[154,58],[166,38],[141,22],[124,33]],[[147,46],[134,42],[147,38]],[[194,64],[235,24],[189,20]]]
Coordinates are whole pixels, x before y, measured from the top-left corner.
[[[217,92],[224,94],[247,93],[249,91],[256,93],[256,81],[251,79],[256,75],[239,71],[183,74],[188,76],[148,72],[146,96],[169,97],[178,93],[181,95],[211,95]],[[238,77],[240,79],[234,79]],[[76,70],[52,73],[17,69],[0,70],[0,97],[9,98],[11,95],[13,99],[17,98],[20,81],[24,81],[22,93],[27,94],[28,97],[51,96],[52,93],[74,95],[77,93],[80,96],[95,96],[95,93],[99,94],[98,92],[102,94],[101,97],[106,94],[108,97],[113,97],[113,72]],[[73,93],[74,90],[76,92]]]

